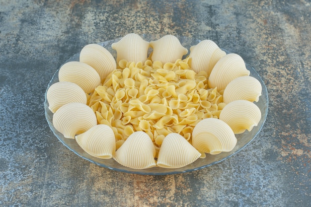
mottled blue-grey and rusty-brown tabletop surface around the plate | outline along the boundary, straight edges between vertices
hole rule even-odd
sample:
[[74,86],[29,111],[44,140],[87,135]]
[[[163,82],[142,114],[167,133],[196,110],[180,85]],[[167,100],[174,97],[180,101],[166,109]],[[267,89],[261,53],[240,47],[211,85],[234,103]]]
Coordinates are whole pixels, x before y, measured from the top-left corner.
[[[308,0],[0,0],[0,206],[311,206]],[[211,39],[264,80],[267,121],[198,171],[143,176],[94,165],[53,135],[44,93],[88,43],[128,33]]]

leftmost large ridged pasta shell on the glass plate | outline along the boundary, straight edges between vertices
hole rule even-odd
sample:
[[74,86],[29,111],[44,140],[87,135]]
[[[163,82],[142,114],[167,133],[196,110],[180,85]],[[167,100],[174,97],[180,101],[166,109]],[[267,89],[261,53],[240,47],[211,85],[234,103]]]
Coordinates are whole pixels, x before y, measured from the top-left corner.
[[47,91],[49,109],[55,113],[61,106],[67,103],[78,102],[86,104],[87,99],[80,86],[72,82],[56,82]]

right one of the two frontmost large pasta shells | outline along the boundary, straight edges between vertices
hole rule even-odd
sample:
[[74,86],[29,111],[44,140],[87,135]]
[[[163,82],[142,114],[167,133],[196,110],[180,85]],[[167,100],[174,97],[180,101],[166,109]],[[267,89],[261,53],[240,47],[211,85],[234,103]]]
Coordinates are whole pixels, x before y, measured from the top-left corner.
[[177,133],[167,135],[160,147],[156,165],[163,168],[186,166],[201,156],[185,138]]

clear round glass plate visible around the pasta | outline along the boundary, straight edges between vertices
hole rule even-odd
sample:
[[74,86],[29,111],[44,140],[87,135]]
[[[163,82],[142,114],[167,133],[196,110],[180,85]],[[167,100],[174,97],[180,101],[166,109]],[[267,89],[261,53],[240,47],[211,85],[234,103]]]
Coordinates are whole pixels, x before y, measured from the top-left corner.
[[[154,40],[161,38],[163,35],[144,34],[141,36],[146,41],[154,41]],[[184,36],[176,36],[176,37],[179,39],[180,43],[185,48],[187,48],[188,50],[192,45],[196,45],[200,42],[200,40],[189,38],[189,37],[184,37]],[[108,40],[108,41],[98,43],[98,44],[105,47],[116,58],[116,52],[111,48],[111,44],[119,41],[120,39],[121,38]],[[224,50],[224,51],[226,51],[227,54],[230,53],[227,50]],[[71,57],[68,61],[66,61],[66,63],[70,62],[70,61],[79,61],[79,53],[75,54],[73,57]],[[168,169],[168,168],[153,167],[153,168],[149,168],[149,169],[137,170],[137,169],[132,169],[132,168],[128,168],[128,167],[125,167],[123,165],[120,165],[114,159],[99,159],[99,158],[96,158],[96,157],[93,157],[93,156],[87,154],[78,145],[78,143],[76,142],[75,139],[64,138],[64,136],[54,128],[53,123],[52,123],[53,113],[48,108],[49,104],[48,104],[47,99],[46,99],[46,93],[45,93],[45,102],[44,102],[45,117],[46,117],[46,120],[47,120],[51,130],[55,134],[55,136],[65,146],[67,146],[70,150],[75,152],[78,156],[80,156],[80,157],[82,157],[82,158],[84,158],[84,159],[86,159],[86,160],[88,160],[94,164],[97,164],[99,166],[106,167],[106,168],[109,168],[111,170],[117,170],[117,171],[127,172],[127,173],[143,174],[143,175],[167,175],[167,174],[176,174],[176,173],[184,173],[184,172],[199,170],[199,169],[211,166],[213,164],[219,163],[219,162],[233,156],[235,153],[239,152],[241,149],[243,149],[248,143],[250,143],[256,137],[256,135],[260,132],[260,130],[261,130],[261,128],[262,128],[262,126],[266,120],[267,113],[268,113],[267,88],[266,88],[263,80],[261,79],[261,77],[258,75],[258,73],[251,66],[246,64],[246,68],[250,71],[251,76],[255,77],[257,80],[260,81],[261,86],[262,86],[262,95],[260,96],[259,101],[257,103],[255,103],[261,111],[261,120],[260,120],[258,126],[254,127],[250,132],[246,131],[243,134],[235,135],[235,137],[237,138],[237,144],[233,148],[232,151],[222,152],[222,153],[217,154],[217,155],[206,154],[206,158],[204,158],[204,159],[199,158],[195,162],[193,162],[193,163],[191,163],[185,167],[181,167],[181,168]],[[55,74],[53,75],[50,83],[48,84],[47,89],[52,84],[59,81],[58,71],[59,70],[57,70],[55,72]]]

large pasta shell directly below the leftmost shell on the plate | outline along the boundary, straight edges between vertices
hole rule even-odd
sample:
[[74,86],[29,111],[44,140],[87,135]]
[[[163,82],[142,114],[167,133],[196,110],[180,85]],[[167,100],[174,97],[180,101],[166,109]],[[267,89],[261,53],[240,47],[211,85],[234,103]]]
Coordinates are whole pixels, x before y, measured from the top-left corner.
[[65,138],[75,138],[95,125],[97,125],[95,113],[82,103],[65,104],[53,116],[53,126]]

